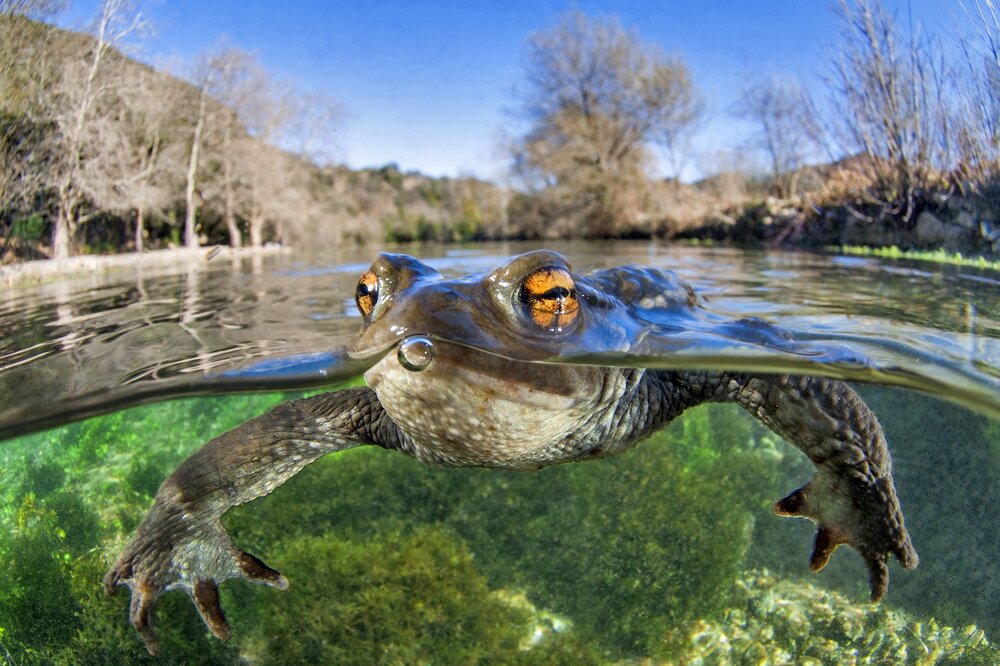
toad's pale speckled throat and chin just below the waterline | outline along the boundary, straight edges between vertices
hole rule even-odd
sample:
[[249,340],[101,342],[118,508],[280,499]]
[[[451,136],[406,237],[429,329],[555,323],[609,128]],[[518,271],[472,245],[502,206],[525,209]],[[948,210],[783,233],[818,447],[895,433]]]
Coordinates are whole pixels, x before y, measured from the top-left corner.
[[535,468],[570,455],[564,442],[592,401],[436,360],[411,372],[394,356],[365,373],[413,453],[441,465]]

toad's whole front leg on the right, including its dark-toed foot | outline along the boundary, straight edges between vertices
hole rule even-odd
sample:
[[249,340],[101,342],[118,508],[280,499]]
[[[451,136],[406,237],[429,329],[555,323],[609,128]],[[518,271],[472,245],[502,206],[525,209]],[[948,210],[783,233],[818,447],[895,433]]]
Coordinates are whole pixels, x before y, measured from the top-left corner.
[[917,566],[892,483],[885,433],[847,384],[723,372],[660,372],[657,379],[675,411],[701,402],[735,402],[812,461],[812,480],[779,500],[774,511],[816,523],[813,571],[826,565],[837,546],[847,544],[868,566],[871,598],[878,601],[889,587],[889,555],[907,569]]

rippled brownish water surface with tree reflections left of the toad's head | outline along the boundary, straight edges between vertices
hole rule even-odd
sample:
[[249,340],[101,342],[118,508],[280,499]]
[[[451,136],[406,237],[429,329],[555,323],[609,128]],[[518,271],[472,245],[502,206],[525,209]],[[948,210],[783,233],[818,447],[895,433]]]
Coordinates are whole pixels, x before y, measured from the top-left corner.
[[199,262],[175,273],[128,270],[8,290],[0,300],[0,421],[66,411],[74,400],[154,397],[213,370],[330,349],[357,328],[343,296],[355,269],[331,281],[272,263]]

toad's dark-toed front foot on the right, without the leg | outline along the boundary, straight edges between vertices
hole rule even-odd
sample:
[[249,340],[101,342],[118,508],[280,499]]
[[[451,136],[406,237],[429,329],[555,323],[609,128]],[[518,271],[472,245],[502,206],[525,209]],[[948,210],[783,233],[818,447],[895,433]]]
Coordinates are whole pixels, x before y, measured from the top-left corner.
[[840,545],[857,550],[868,567],[871,600],[889,589],[889,555],[907,569],[917,566],[917,553],[903,526],[903,515],[892,482],[873,483],[817,474],[774,505],[779,516],[808,518],[816,523],[816,540],[809,568],[819,571]]

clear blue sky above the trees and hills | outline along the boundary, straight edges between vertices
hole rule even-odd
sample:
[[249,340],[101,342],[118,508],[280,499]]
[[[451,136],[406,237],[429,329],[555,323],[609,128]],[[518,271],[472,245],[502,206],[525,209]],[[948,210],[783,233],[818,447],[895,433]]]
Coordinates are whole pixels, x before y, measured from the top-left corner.
[[[97,0],[60,17],[82,28]],[[747,127],[727,109],[747,80],[797,76],[822,95],[838,25],[833,0],[158,0],[137,3],[155,27],[142,57],[195,58],[223,35],[254,51],[277,77],[340,100],[348,116],[333,137],[336,161],[397,162],[432,175],[502,180],[501,132],[524,72],[525,43],[574,8],[617,15],[644,40],[681,55],[707,103],[687,178],[711,171]],[[890,0],[906,17],[951,31],[958,0]]]

